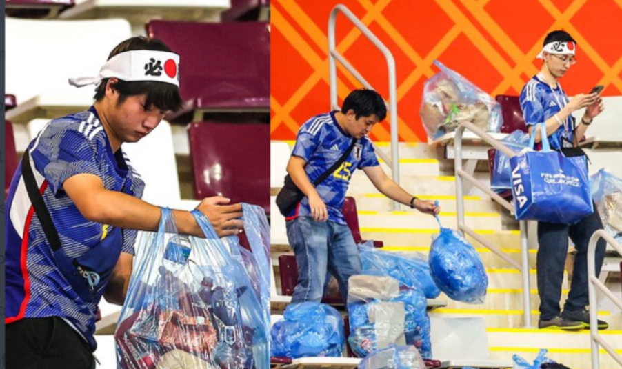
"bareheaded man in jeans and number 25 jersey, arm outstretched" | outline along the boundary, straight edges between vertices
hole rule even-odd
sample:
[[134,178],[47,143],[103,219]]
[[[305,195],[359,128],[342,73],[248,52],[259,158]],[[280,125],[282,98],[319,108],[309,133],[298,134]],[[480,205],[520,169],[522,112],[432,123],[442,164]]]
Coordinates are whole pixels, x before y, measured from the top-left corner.
[[[285,217],[288,240],[300,271],[292,303],[321,301],[327,270],[339,282],[345,300],[348,279],[361,273],[359,250],[341,213],[354,170],[362,169],[374,186],[394,201],[430,215],[440,211],[434,202],[417,199],[403,190],[380,167],[367,135],[386,114],[378,92],[354,90],[343,101],[341,111],[317,115],[298,132],[287,169],[305,197]],[[314,187],[312,182],[352,145],[341,166]]]

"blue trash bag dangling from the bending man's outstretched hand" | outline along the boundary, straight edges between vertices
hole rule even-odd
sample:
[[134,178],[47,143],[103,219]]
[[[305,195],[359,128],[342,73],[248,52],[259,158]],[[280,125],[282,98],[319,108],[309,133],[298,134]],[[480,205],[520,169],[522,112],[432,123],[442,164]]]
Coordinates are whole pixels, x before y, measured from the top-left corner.
[[432,279],[445,295],[466,303],[484,302],[488,276],[476,250],[462,235],[441,226],[439,235],[432,237],[428,257]]

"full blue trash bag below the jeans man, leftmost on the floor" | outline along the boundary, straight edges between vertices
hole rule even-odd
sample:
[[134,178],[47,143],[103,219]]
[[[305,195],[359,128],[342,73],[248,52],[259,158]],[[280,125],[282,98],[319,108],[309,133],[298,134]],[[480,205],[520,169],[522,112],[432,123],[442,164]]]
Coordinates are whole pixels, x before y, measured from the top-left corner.
[[345,347],[343,318],[331,306],[317,302],[293,303],[272,326],[273,357],[341,357]]

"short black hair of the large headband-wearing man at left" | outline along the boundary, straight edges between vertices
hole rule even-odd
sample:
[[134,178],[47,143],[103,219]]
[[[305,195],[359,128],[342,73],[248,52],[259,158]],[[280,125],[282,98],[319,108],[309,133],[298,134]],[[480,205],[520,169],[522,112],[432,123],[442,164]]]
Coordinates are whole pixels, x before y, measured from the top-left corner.
[[[132,37],[123,41],[115,47],[108,60],[121,52],[131,50],[154,50],[154,51],[167,51],[170,52],[170,48],[159,39],[147,38],[147,37]],[[95,90],[95,101],[101,101],[106,94],[106,84],[110,79],[106,78],[101,81],[97,89]],[[147,99],[145,101],[146,108],[154,106],[155,108],[163,111],[177,112],[181,109],[183,101],[181,100],[181,94],[179,94],[179,88],[166,82],[156,81],[121,81],[115,83],[112,87],[119,92],[119,102],[123,103],[128,97],[146,94]]]

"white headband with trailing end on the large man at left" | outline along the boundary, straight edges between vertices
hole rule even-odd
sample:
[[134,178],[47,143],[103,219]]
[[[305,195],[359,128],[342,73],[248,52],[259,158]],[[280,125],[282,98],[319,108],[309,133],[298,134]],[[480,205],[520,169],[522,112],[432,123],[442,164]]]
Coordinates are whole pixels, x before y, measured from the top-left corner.
[[174,52],[132,50],[114,55],[101,67],[97,77],[70,78],[72,86],[97,85],[102,79],[122,81],[154,81],[179,87],[179,55]]

